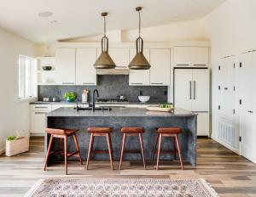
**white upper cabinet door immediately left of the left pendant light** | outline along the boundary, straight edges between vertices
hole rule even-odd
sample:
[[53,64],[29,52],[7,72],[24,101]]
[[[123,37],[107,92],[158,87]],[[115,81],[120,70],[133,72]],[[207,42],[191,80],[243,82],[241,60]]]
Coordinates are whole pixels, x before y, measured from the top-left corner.
[[77,48],[76,52],[76,84],[96,85],[96,48]]

